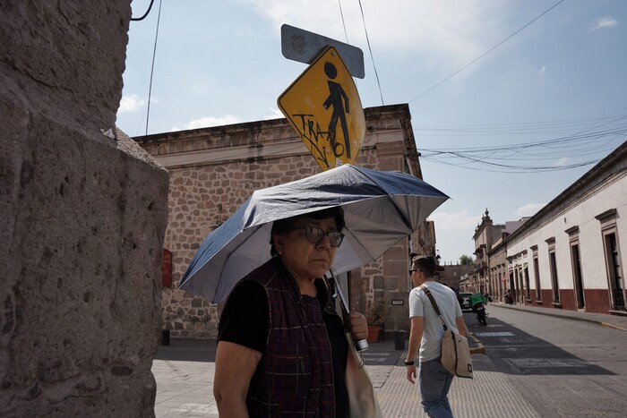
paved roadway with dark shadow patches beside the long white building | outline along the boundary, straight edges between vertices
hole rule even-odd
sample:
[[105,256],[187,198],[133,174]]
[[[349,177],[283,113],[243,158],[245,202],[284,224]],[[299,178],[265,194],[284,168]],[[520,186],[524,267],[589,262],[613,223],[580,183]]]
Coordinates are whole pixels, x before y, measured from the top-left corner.
[[627,332],[497,305],[488,310],[488,326],[471,331],[539,414],[627,416]]

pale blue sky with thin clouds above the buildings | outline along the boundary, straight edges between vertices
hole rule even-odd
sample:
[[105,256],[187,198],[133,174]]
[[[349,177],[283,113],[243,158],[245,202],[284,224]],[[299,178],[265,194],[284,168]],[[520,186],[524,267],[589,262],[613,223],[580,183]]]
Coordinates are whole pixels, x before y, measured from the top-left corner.
[[130,24],[118,127],[283,117],[306,69],[284,23],[362,49],[363,107],[409,104],[423,178],[451,197],[430,216],[442,263],[472,255],[486,209],[532,216],[627,140],[623,0],[155,0]]

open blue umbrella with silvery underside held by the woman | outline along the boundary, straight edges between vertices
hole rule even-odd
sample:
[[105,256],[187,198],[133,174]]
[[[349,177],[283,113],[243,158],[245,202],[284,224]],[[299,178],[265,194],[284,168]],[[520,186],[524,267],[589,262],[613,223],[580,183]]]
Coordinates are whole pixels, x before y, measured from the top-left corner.
[[416,231],[447,199],[413,175],[351,165],[257,190],[205,238],[179,287],[222,302],[242,277],[270,260],[275,220],[336,206],[344,209],[346,236],[331,270],[356,269]]

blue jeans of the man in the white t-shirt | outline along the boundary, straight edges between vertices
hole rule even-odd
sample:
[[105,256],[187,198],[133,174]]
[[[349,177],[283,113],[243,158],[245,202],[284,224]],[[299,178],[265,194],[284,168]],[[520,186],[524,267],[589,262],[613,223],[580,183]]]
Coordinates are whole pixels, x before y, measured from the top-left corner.
[[432,418],[452,418],[448,397],[452,381],[453,375],[444,369],[440,359],[420,363],[420,404],[427,415]]

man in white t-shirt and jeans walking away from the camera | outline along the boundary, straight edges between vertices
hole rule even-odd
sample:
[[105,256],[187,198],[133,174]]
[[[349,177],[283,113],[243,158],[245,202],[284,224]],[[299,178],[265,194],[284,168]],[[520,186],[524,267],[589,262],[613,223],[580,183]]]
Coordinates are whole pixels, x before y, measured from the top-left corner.
[[420,404],[430,417],[452,417],[448,393],[453,375],[440,363],[442,337],[444,330],[442,321],[434,311],[434,307],[422,287],[434,296],[442,320],[453,332],[466,337],[468,329],[461,313],[460,303],[455,292],[448,286],[434,281],[435,259],[432,256],[416,256],[412,258],[411,281],[414,284],[409,294],[409,333],[407,378],[411,383],[416,380],[416,364],[414,359],[420,348],[420,371],[418,383],[420,387]]

